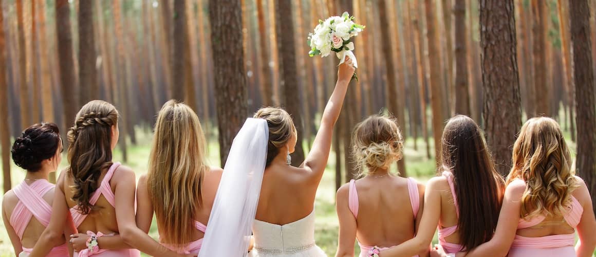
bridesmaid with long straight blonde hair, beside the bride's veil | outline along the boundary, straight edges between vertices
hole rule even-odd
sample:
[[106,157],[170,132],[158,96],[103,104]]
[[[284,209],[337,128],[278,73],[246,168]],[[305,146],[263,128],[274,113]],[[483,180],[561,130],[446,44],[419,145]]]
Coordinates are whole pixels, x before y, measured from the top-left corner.
[[136,223],[148,233],[156,213],[160,241],[198,254],[223,170],[206,160],[206,140],[193,109],[170,100],[157,115],[147,175],[136,188]]

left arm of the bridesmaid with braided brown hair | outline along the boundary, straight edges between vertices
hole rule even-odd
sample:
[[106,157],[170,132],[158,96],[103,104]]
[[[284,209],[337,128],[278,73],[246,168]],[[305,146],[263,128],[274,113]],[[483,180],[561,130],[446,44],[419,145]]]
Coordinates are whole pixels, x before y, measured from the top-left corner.
[[52,248],[60,243],[64,238],[64,228],[72,226],[72,224],[66,224],[67,221],[72,222],[72,219],[67,219],[70,216],[69,207],[66,204],[66,198],[64,197],[64,177],[66,171],[60,172],[60,177],[56,183],[54,189],[54,202],[52,203],[52,216],[49,220],[48,227],[45,228],[44,233],[41,234],[32,252],[29,254],[30,257],[43,257],[48,255]]

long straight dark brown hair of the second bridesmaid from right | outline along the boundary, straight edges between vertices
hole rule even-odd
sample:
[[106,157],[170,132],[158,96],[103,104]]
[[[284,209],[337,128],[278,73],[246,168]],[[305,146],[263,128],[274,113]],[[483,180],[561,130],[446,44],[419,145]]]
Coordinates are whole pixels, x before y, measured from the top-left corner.
[[460,244],[472,250],[495,233],[504,181],[493,166],[482,131],[470,117],[449,119],[442,142],[442,168],[454,176]]

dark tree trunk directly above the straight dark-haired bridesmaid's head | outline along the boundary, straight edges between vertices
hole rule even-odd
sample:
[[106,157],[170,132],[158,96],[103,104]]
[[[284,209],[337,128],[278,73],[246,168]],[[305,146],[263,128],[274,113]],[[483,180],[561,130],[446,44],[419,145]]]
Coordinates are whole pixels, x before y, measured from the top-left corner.
[[470,115],[465,0],[455,0],[455,113]]

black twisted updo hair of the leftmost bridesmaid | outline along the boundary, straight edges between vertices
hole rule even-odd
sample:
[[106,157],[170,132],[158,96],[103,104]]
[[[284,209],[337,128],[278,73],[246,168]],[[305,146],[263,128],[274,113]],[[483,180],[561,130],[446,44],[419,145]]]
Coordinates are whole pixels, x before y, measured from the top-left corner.
[[11,154],[14,164],[29,172],[42,168],[44,160],[55,156],[60,147],[60,130],[54,123],[41,123],[25,129],[14,141]]

